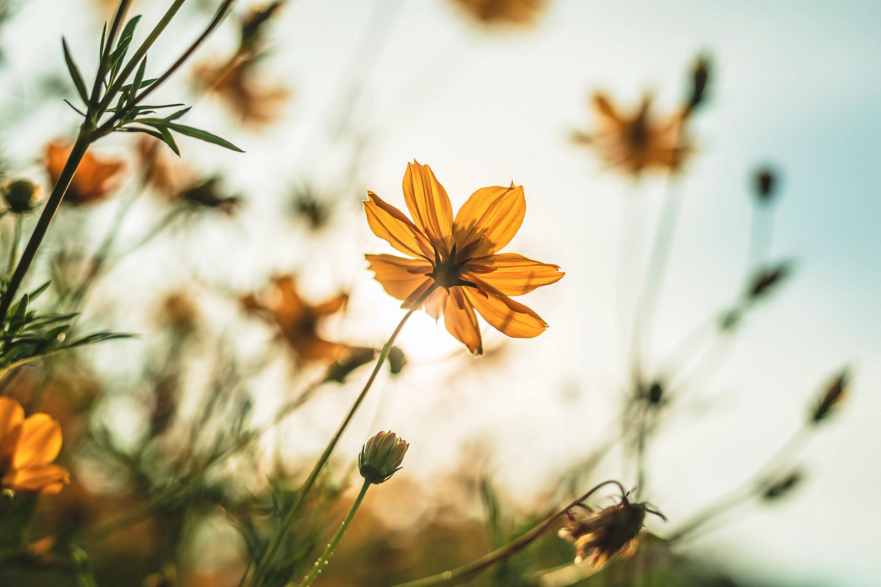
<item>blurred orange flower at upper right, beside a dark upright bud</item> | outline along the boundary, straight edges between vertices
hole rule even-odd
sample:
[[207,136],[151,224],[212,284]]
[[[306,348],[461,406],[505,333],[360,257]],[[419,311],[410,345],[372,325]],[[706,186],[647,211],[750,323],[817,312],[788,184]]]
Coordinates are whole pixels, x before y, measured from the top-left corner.
[[677,171],[692,153],[683,130],[688,110],[655,120],[651,115],[651,96],[632,116],[622,115],[603,93],[595,93],[593,108],[599,119],[596,133],[574,133],[573,140],[590,145],[610,167],[640,175],[644,169]]

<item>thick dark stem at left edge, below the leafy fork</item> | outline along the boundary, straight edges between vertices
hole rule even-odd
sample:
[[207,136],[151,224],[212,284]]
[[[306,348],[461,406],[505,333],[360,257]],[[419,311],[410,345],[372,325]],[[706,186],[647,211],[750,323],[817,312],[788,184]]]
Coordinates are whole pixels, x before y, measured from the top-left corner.
[[46,206],[43,208],[43,212],[40,214],[40,219],[37,220],[37,226],[33,228],[33,234],[31,234],[30,240],[27,241],[27,246],[25,247],[24,253],[21,255],[21,260],[19,261],[19,264],[16,265],[15,271],[12,273],[9,286],[6,288],[3,299],[0,300],[0,324],[5,324],[6,313],[9,311],[12,301],[15,299],[15,294],[19,291],[19,286],[21,285],[22,280],[25,279],[27,270],[30,269],[31,264],[33,263],[33,257],[37,255],[37,249],[40,248],[40,244],[43,241],[43,237],[46,236],[49,224],[52,222],[53,217],[55,217],[55,213],[58,211],[58,206],[61,205],[64,192],[67,191],[67,188],[70,185],[70,180],[73,179],[73,174],[77,170],[77,167],[79,167],[79,162],[83,160],[83,155],[85,155],[85,151],[89,148],[92,140],[93,128],[89,128],[89,122],[86,121],[83,123],[83,127],[79,130],[77,142],[73,144],[73,148],[70,150],[67,162],[64,164],[61,175],[58,176],[58,182],[56,183],[55,188],[52,189],[52,194],[49,196]]

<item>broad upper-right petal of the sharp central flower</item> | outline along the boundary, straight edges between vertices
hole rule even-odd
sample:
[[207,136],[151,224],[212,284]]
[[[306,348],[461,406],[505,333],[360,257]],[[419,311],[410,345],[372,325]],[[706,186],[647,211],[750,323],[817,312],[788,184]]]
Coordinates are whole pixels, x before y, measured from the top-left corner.
[[525,215],[522,186],[478,189],[455,215],[456,256],[492,255],[514,238]]

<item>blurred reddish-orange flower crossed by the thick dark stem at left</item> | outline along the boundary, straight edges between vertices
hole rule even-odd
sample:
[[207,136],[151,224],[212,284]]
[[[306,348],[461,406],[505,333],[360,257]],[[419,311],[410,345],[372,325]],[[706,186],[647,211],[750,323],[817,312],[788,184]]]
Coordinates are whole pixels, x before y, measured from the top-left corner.
[[[73,145],[53,141],[46,147],[46,171],[55,186]],[[99,160],[86,152],[73,175],[63,202],[71,205],[100,202],[119,186],[120,173],[125,164],[122,160]]]

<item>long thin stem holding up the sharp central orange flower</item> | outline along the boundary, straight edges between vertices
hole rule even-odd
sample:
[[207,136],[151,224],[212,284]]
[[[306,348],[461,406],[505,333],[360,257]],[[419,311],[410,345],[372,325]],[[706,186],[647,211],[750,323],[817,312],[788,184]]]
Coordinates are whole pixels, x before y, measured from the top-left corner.
[[263,584],[266,570],[269,568],[269,565],[275,558],[275,555],[278,554],[278,548],[285,540],[285,537],[291,531],[293,522],[296,519],[297,514],[300,513],[300,508],[303,506],[303,503],[306,502],[306,496],[309,494],[312,486],[315,485],[315,480],[318,479],[319,473],[322,472],[324,465],[328,463],[334,449],[337,448],[337,443],[339,442],[339,439],[343,436],[345,429],[349,427],[349,423],[352,422],[352,418],[354,418],[355,412],[358,412],[358,408],[360,407],[361,402],[364,401],[364,398],[367,395],[367,391],[370,390],[370,386],[373,385],[374,380],[376,379],[376,375],[380,372],[382,364],[389,356],[389,351],[391,351],[392,345],[395,344],[395,339],[397,338],[397,335],[400,334],[401,330],[403,329],[403,324],[407,322],[407,320],[410,318],[410,316],[412,316],[413,312],[415,312],[417,308],[420,308],[422,306],[426,299],[428,299],[428,296],[431,295],[434,290],[437,289],[437,287],[437,284],[433,283],[428,289],[426,289],[424,294],[419,296],[418,300],[413,303],[409,310],[407,310],[407,313],[403,316],[401,322],[398,323],[397,328],[394,332],[392,332],[388,342],[386,342],[385,346],[382,346],[380,356],[376,360],[374,371],[370,374],[370,378],[367,379],[367,383],[364,385],[364,389],[361,390],[358,398],[355,399],[352,407],[349,408],[349,412],[345,415],[345,418],[343,422],[339,425],[339,428],[337,428],[337,433],[333,436],[333,438],[330,439],[330,442],[328,442],[327,447],[324,449],[324,452],[322,452],[322,456],[319,457],[318,462],[315,463],[315,467],[312,469],[312,472],[309,473],[306,482],[303,483],[303,487],[300,487],[300,491],[297,492],[296,501],[293,502],[291,509],[289,509],[287,514],[285,515],[285,519],[282,521],[281,527],[278,529],[278,533],[275,535],[275,538],[273,538],[270,542],[270,546],[267,547],[266,553],[263,554],[263,557],[260,559],[259,562],[257,562],[253,576],[251,576],[250,580],[248,581],[248,569],[246,569],[245,574],[241,577],[241,582],[239,583],[240,587],[244,585],[248,585],[249,587],[259,587],[259,585]]

